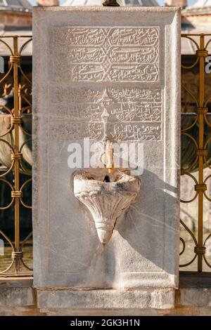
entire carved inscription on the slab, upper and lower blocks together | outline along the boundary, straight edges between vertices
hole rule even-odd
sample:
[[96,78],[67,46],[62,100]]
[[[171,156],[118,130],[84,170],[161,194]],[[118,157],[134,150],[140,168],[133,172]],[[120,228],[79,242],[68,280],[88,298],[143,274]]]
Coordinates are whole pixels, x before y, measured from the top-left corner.
[[161,140],[159,38],[160,27],[55,27],[53,80],[65,85],[50,87],[51,117],[67,122],[53,136]]

